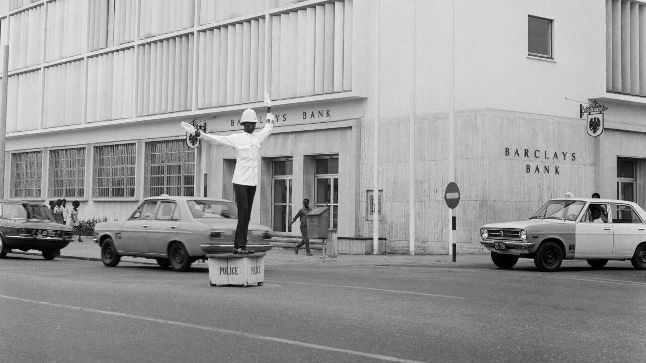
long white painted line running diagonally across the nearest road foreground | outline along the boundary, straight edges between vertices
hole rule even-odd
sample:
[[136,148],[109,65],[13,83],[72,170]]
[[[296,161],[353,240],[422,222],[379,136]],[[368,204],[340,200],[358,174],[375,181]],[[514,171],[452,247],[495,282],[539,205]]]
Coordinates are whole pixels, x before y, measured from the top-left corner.
[[197,325],[197,324],[189,324],[189,323],[176,322],[176,321],[173,321],[173,320],[164,320],[164,319],[158,319],[158,318],[149,318],[147,316],[131,315],[131,314],[125,314],[125,313],[116,313],[114,311],[107,311],[107,310],[90,309],[89,307],[68,306],[68,305],[54,304],[52,302],[46,302],[46,301],[27,300],[27,299],[24,299],[24,298],[18,298],[16,296],[0,295],[0,298],[6,298],[6,299],[21,301],[21,302],[30,302],[30,303],[33,303],[33,304],[41,304],[41,305],[45,305],[45,306],[61,307],[61,308],[72,309],[72,310],[77,310],[77,311],[79,311],[79,310],[80,311],[86,311],[88,313],[98,313],[98,314],[105,314],[105,315],[112,315],[112,316],[120,316],[122,318],[140,319],[140,320],[146,320],[146,321],[149,321],[149,322],[156,322],[156,323],[161,323],[161,324],[171,324],[171,325],[180,326],[180,327],[190,327],[190,328],[193,328],[193,329],[200,329],[200,330],[205,330],[205,331],[213,331],[213,332],[216,332],[216,333],[237,335],[238,337],[260,339],[260,340],[269,340],[270,342],[291,344],[293,346],[308,347],[308,348],[321,349],[321,350],[326,350],[326,351],[335,351],[335,352],[338,352],[338,353],[359,355],[361,357],[375,358],[375,359],[380,359],[380,360],[388,360],[389,362],[426,363],[426,362],[422,362],[420,360],[410,360],[410,359],[402,359],[402,358],[397,358],[397,357],[390,357],[388,355],[364,353],[362,351],[353,351],[351,349],[341,349],[341,348],[335,348],[335,347],[321,346],[320,344],[311,344],[311,343],[306,343],[306,342],[298,342],[296,340],[289,340],[289,339],[276,338],[276,337],[266,337],[264,335],[255,335],[255,334],[250,334],[250,333],[244,333],[242,331],[220,329],[218,327],[210,327],[210,326],[203,326],[203,325]]

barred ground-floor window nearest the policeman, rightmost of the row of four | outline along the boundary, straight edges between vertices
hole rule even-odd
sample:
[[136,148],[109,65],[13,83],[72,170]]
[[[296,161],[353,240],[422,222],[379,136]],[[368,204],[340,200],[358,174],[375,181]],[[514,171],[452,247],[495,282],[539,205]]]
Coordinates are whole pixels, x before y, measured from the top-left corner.
[[145,197],[195,195],[195,151],[185,140],[146,143]]

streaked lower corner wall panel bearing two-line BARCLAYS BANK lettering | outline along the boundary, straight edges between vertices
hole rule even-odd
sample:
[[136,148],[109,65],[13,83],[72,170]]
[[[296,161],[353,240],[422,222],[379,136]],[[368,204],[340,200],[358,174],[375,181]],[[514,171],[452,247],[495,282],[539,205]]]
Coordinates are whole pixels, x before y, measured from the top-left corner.
[[[448,253],[446,117],[429,114],[415,124],[415,253]],[[461,200],[454,210],[454,240],[461,253],[482,251],[478,233],[485,223],[524,220],[545,200],[567,191],[575,196],[595,191],[594,139],[578,119],[474,110],[457,114],[455,123],[455,182]],[[362,127],[360,236],[371,236],[365,211],[366,190],[372,189],[372,125]],[[389,253],[408,253],[408,120],[384,121],[380,127],[388,135],[379,147],[380,237],[388,240]]]

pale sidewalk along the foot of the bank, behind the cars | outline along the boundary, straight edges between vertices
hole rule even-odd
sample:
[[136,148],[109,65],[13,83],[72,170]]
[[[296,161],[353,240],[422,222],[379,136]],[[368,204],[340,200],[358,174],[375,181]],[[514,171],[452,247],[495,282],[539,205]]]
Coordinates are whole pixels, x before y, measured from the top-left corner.
[[[16,254],[31,254],[41,256],[40,251],[13,251]],[[271,264],[322,264],[321,251],[313,250],[314,256],[306,256],[304,249],[295,254],[293,249],[274,247],[267,252],[266,263]],[[101,261],[101,249],[95,244],[90,236],[83,236],[83,242],[74,240],[67,247],[61,249],[61,255],[57,258],[71,258],[75,260]],[[134,264],[156,265],[155,260],[140,257],[122,257],[121,262]],[[488,253],[486,254],[457,254],[456,262],[450,254],[339,254],[337,258],[326,258],[326,265],[450,265],[454,267],[466,267],[474,264],[492,263]],[[206,265],[202,260],[196,261],[193,265]]]

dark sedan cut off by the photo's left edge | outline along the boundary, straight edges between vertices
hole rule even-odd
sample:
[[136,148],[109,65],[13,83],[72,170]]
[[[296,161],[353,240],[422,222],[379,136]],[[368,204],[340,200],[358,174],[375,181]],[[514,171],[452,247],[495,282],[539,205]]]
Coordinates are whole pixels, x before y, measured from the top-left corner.
[[54,222],[46,205],[0,200],[0,258],[14,249],[36,249],[53,260],[72,241],[74,229]]

